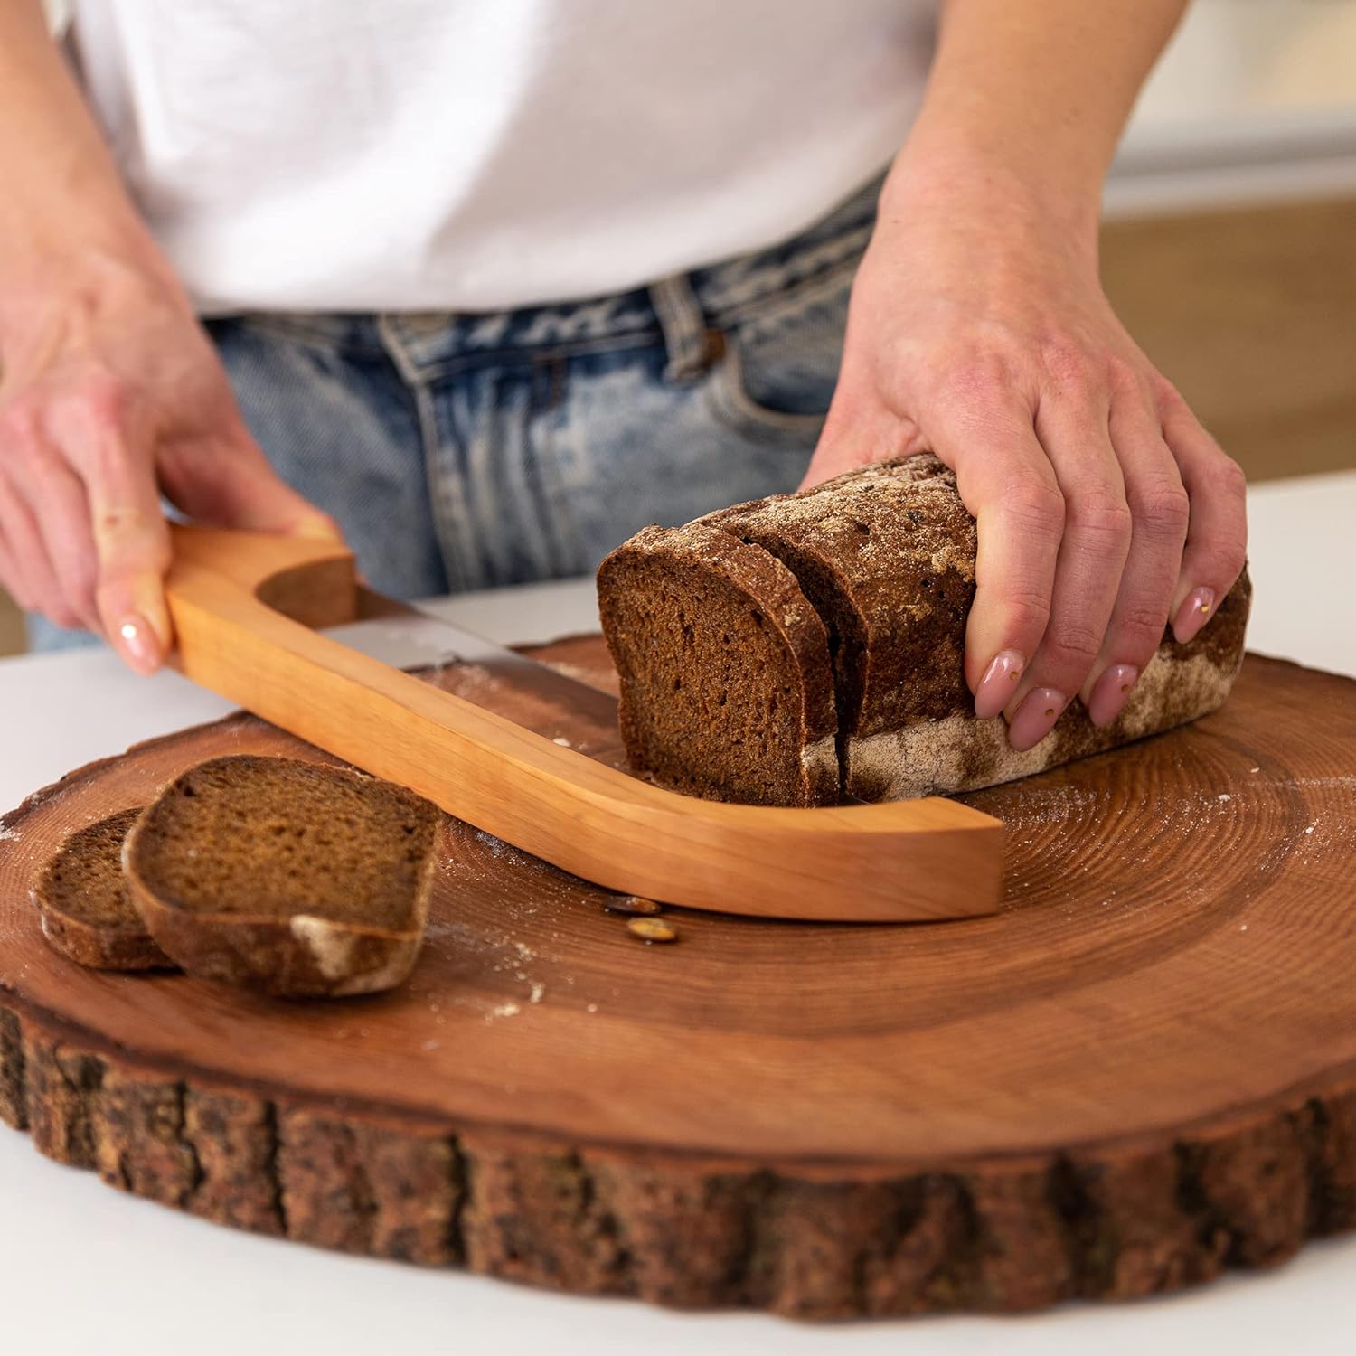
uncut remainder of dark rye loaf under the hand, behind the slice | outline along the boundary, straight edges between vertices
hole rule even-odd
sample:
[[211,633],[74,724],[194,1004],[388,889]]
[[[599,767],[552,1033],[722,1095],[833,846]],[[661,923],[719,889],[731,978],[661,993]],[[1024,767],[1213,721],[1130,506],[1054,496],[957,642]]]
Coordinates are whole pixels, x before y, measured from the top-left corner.
[[[1094,728],[1075,700],[1044,740],[1017,753],[1001,717],[975,717],[965,686],[975,523],[955,476],[936,457],[864,466],[690,526],[730,533],[784,563],[823,618],[834,656],[842,792],[862,800],[972,791],[1169,730],[1220,705],[1242,664],[1252,597],[1246,574],[1189,645],[1165,633],[1116,721]],[[602,583],[599,601],[606,631],[614,603]],[[655,598],[631,606],[662,610]],[[628,694],[622,671],[622,700],[632,711],[659,700],[643,669],[629,673],[629,686]],[[682,739],[693,719],[674,709],[666,728]],[[636,758],[629,736],[628,750]],[[662,763],[664,750],[650,749],[645,758]],[[706,784],[725,776],[723,767],[713,770]]]

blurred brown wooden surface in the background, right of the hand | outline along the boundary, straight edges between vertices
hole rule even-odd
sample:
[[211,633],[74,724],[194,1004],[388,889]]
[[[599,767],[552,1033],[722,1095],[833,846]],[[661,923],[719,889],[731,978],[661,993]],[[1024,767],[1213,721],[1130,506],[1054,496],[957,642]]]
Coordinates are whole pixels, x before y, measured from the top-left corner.
[[1356,468],[1356,198],[1113,222],[1102,275],[1249,480]]

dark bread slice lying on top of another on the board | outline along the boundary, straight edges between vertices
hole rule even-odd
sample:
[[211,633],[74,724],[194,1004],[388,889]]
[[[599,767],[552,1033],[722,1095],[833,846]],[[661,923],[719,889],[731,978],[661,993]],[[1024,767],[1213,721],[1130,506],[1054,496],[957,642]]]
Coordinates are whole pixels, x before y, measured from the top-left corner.
[[216,758],[146,807],[123,868],[151,934],[191,975],[367,994],[419,955],[441,829],[431,801],[357,772]]

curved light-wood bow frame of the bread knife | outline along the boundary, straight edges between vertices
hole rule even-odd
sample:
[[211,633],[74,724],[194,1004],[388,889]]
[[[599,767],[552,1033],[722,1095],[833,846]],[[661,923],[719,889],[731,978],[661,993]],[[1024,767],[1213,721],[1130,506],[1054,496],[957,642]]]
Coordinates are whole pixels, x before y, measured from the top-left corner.
[[348,551],[174,529],[176,662],[194,682],[504,842],[624,894],[732,914],[899,922],[994,913],[1003,827],[932,797],[816,810],[663,791],[348,650]]

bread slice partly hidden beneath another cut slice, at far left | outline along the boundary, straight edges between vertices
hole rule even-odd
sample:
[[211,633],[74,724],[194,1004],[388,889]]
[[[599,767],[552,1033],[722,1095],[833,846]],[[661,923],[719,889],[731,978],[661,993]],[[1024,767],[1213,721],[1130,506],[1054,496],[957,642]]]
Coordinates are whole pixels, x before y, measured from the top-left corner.
[[33,885],[42,934],[62,956],[95,970],[160,970],[156,945],[122,876],[122,843],[141,808],[69,834]]

